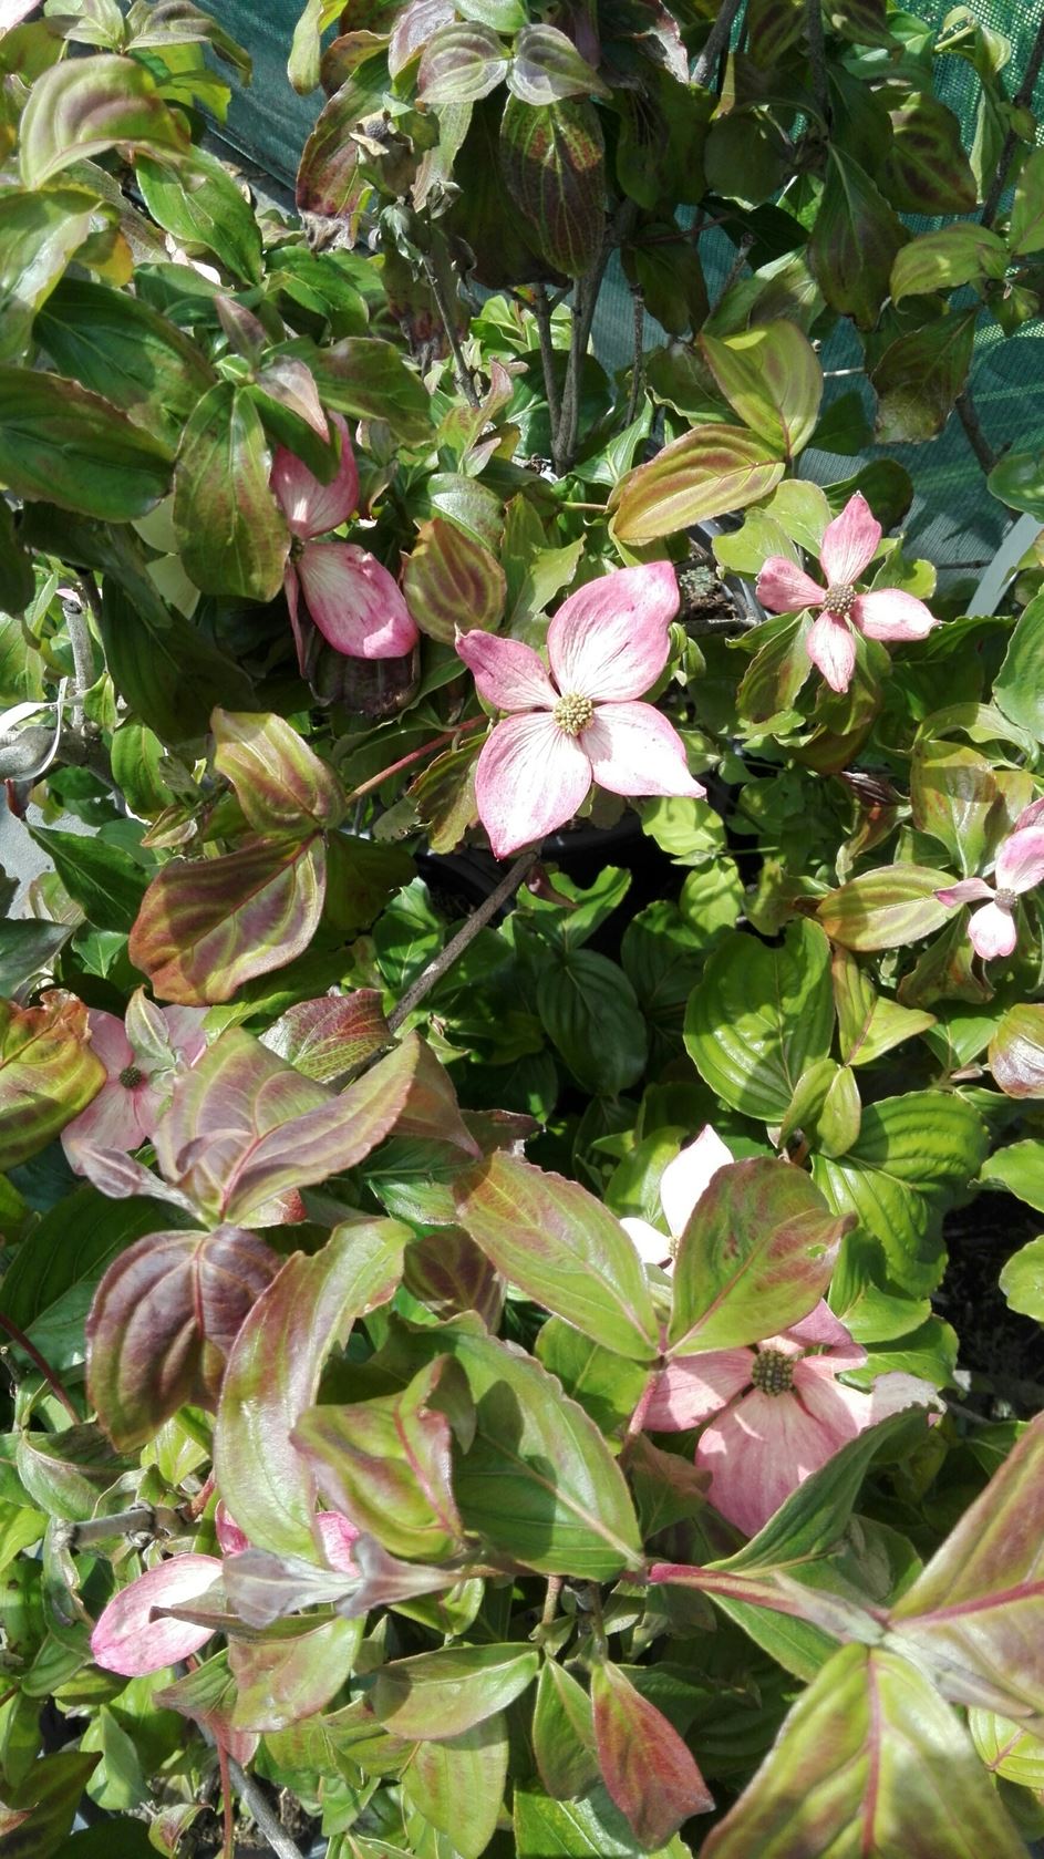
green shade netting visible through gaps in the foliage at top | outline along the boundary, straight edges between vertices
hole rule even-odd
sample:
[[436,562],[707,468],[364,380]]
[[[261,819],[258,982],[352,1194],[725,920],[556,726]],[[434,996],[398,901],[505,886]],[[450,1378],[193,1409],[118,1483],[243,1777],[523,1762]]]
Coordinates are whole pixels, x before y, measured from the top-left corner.
[[[286,56],[297,22],[299,0],[268,0],[266,7],[249,0],[210,0],[210,11],[240,39],[254,59],[254,82],[236,95],[225,138],[262,173],[282,186],[294,184],[297,158],[321,106],[321,93],[297,97],[286,78]],[[949,0],[916,0],[910,11],[940,28],[951,11]],[[1009,91],[1018,87],[1025,69],[1037,24],[1040,0],[973,0],[973,15],[1012,41]],[[1014,78],[1011,76],[1014,73]],[[973,126],[977,84],[962,58],[936,59],[936,93],[964,125],[966,141]],[[1037,91],[1037,113],[1044,113],[1044,78]],[[923,231],[936,221],[910,221],[912,231]],[[711,232],[700,240],[700,255],[708,275],[711,301],[721,288],[734,258],[734,247],[723,234]],[[598,318],[594,348],[606,368],[620,368],[632,353],[632,301],[619,266],[609,271]],[[1044,323],[1035,320],[1005,338],[996,323],[983,320],[975,338],[972,392],[983,429],[994,446],[1014,444],[1018,450],[1044,446]],[[650,333],[652,340],[652,333]],[[847,325],[823,344],[823,366],[845,368],[858,363],[858,344]],[[832,392],[856,385],[851,377],[829,383]],[[873,403],[866,387],[868,405]],[[881,455],[868,448],[864,457]],[[1011,517],[985,487],[983,472],[968,446],[964,429],[951,418],[938,439],[920,446],[888,446],[888,457],[907,467],[916,485],[908,532],[920,552],[940,567],[979,580],[981,567],[994,556]],[[849,478],[858,459],[832,454],[804,454],[803,470],[819,481]]]

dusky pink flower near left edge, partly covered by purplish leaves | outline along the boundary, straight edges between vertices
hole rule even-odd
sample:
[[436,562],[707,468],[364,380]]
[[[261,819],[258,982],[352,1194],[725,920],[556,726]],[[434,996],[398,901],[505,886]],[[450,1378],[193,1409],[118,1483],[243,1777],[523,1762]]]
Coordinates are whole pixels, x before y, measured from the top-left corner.
[[80,1145],[141,1149],[167,1108],[178,1069],[206,1050],[206,1008],[156,1008],[137,989],[126,1021],[102,1008],[87,1009],[91,1050],[106,1067],[98,1095],[61,1132],[65,1158],[82,1175]]

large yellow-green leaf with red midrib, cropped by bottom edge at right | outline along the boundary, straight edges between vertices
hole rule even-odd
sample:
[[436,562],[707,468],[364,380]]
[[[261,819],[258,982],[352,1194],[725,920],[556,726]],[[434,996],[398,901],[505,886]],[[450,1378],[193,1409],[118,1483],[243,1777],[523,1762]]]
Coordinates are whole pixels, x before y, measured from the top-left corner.
[[968,1733],[905,1658],[842,1647],[700,1859],[1025,1859]]

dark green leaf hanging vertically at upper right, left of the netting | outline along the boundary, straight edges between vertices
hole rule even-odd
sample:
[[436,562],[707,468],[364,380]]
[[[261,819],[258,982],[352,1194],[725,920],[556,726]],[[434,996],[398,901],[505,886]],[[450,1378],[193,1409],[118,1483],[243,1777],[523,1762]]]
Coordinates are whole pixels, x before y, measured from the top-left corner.
[[873,329],[907,229],[858,162],[830,143],[808,262],[832,310]]

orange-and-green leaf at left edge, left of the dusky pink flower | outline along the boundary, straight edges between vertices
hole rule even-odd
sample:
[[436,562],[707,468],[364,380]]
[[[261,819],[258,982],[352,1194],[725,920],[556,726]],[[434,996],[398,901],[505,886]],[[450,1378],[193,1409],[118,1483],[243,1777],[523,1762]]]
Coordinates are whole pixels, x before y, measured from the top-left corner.
[[50,989],[35,1008],[0,1000],[0,1169],[43,1149],[104,1082],[76,995]]

